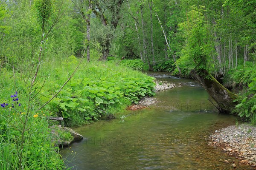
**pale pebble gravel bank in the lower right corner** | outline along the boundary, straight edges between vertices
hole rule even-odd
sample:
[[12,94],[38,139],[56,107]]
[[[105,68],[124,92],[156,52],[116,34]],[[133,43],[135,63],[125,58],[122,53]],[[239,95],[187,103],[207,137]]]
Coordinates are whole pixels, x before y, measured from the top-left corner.
[[256,127],[241,124],[215,130],[209,145],[221,147],[223,152],[236,156],[240,164],[249,164],[256,169]]

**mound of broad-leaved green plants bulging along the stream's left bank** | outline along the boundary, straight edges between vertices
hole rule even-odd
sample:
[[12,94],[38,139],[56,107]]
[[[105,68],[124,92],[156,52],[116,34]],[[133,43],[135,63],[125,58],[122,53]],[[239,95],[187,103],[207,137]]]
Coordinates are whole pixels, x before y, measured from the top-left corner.
[[[70,60],[71,59],[71,60]],[[63,70],[71,71],[75,64],[66,60],[61,65],[52,65],[49,69],[55,75],[49,77],[47,85],[41,90],[39,100],[47,102],[56,89],[65,81]],[[76,61],[73,57],[69,62]],[[102,66],[104,65],[104,66]],[[62,69],[60,69],[62,67]],[[58,69],[57,69],[58,68]],[[98,120],[101,116],[119,113],[131,102],[137,103],[144,96],[154,95],[153,78],[115,62],[83,63],[73,80],[46,106],[57,116],[64,117],[68,126],[84,125]],[[55,88],[52,88],[51,86]]]

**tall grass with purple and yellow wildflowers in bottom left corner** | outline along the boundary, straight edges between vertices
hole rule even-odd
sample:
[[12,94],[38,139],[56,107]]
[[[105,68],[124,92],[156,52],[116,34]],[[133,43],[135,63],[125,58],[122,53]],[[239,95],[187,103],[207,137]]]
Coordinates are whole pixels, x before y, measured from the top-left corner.
[[[0,100],[7,102],[6,94]],[[25,113],[24,100],[19,98],[21,105],[12,101],[17,99],[15,97],[8,102],[9,105],[0,108],[0,169],[18,170],[21,166],[24,170],[63,169],[58,148],[52,142],[45,117],[47,113]],[[24,124],[28,128],[25,131]]]

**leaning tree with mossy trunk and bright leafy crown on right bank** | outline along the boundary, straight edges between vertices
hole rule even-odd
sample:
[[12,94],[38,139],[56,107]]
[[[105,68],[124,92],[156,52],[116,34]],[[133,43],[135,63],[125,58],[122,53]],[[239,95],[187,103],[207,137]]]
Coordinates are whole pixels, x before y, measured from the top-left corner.
[[191,75],[206,89],[218,104],[221,112],[230,113],[235,107],[236,95],[224,88],[211,74],[214,43],[208,31],[208,23],[204,20],[204,6],[192,6],[187,14],[187,20],[179,25],[186,43],[183,48],[186,56],[195,64]]

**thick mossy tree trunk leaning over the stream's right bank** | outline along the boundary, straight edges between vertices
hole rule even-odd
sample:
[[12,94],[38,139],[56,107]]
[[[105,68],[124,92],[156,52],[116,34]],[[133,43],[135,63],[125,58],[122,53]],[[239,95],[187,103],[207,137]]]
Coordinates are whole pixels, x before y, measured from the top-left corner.
[[231,93],[227,88],[221,85],[212,75],[210,75],[206,70],[196,71],[192,70],[192,77],[200,83],[208,94],[215,100],[218,104],[218,110],[224,113],[231,113],[231,111],[238,104],[233,102],[237,96]]

